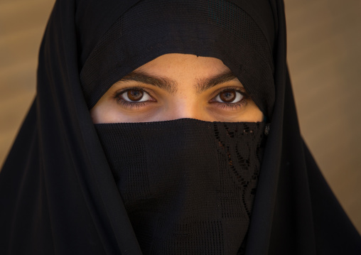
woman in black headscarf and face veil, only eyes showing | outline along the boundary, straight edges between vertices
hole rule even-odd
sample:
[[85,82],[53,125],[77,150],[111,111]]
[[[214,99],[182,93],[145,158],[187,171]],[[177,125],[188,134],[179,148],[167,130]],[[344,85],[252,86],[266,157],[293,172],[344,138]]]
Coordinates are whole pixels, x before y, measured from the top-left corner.
[[282,1],[57,1],[0,194],[1,254],[361,251],[299,134]]

